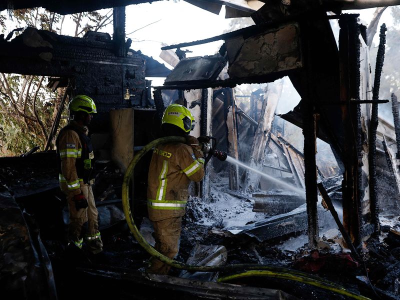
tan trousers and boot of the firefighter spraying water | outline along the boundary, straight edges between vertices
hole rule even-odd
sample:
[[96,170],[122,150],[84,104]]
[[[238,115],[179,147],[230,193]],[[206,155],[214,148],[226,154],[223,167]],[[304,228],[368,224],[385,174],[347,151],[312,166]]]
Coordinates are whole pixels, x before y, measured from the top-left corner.
[[[171,259],[176,256],[179,249],[181,222],[181,216],[170,217],[160,221],[152,221],[154,227],[153,236],[155,240],[154,248]],[[146,269],[146,272],[167,274],[169,269],[169,265],[151,257],[150,266]]]

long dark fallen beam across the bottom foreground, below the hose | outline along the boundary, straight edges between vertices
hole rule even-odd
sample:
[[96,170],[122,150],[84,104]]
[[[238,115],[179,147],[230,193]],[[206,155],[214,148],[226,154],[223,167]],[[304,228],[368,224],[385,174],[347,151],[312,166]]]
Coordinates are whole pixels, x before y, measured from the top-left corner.
[[[126,268],[84,269],[78,268],[78,275],[84,282],[96,282],[93,292],[112,292],[114,298],[129,295],[135,299],[155,298],[160,294],[167,299],[246,299],[246,300],[296,300],[290,294],[278,289],[241,286],[230,283],[206,282],[168,275],[146,274]],[[86,280],[87,279],[87,280]],[[83,282],[83,281],[82,281]],[[114,287],[112,291],[109,286]],[[117,288],[115,288],[117,287]]]

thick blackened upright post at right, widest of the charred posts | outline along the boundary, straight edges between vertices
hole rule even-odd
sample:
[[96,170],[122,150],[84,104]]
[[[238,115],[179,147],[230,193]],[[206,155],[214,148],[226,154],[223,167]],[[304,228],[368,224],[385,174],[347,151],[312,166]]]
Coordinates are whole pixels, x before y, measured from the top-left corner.
[[360,241],[360,107],[350,99],[359,97],[359,26],[358,15],[339,18],[340,102],[344,126],[342,181],[343,225],[355,244]]

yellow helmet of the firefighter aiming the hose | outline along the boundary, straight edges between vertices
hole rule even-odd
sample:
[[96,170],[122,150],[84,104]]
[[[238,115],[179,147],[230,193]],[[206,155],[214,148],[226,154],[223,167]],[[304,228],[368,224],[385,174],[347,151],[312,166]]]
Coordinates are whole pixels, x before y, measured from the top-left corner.
[[178,126],[187,133],[194,128],[195,121],[189,109],[180,104],[170,104],[162,115],[161,125],[164,123]]

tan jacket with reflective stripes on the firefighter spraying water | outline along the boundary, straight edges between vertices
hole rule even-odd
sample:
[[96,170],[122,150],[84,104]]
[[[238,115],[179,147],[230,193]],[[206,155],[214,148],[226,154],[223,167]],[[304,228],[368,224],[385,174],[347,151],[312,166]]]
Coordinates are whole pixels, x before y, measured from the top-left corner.
[[190,180],[204,176],[202,152],[194,154],[184,143],[172,142],[154,148],[148,171],[147,206],[150,220],[182,216]]

